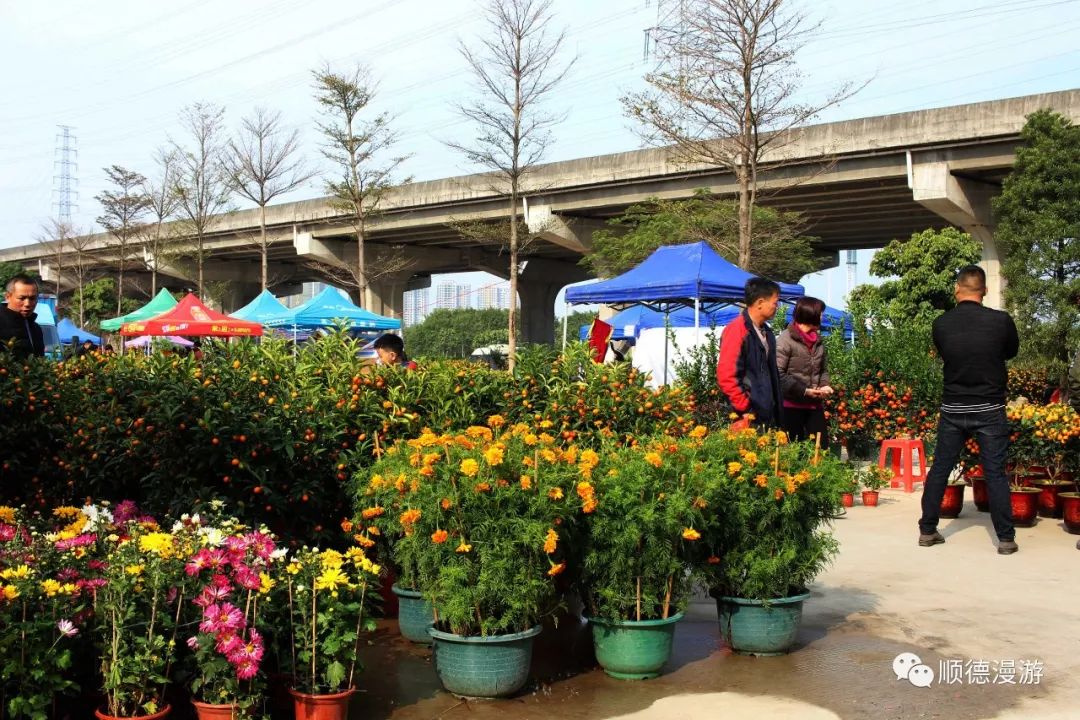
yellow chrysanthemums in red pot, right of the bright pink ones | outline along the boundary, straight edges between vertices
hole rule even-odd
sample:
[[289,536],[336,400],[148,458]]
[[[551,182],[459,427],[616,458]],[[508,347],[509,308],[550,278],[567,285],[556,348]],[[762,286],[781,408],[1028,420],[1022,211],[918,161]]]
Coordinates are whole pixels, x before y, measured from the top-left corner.
[[289,556],[279,601],[288,607],[297,720],[345,720],[356,689],[363,633],[375,629],[372,593],[378,565],[361,547],[345,553],[305,547]]

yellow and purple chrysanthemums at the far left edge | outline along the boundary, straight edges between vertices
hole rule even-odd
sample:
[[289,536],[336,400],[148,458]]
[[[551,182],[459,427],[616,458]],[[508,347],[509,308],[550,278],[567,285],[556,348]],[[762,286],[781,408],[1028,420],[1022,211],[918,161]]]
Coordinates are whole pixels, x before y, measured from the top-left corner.
[[79,539],[85,518],[75,507],[58,510],[65,527],[45,536],[43,524],[31,525],[23,508],[0,507],[3,717],[45,718],[58,695],[78,688],[72,646],[92,592]]

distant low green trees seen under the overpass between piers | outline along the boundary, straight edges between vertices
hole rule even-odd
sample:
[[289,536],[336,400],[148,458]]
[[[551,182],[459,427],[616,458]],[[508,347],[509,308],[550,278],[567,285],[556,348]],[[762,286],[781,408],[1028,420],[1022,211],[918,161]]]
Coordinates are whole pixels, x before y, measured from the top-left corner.
[[409,356],[468,357],[476,348],[507,344],[505,310],[435,310],[405,328]]

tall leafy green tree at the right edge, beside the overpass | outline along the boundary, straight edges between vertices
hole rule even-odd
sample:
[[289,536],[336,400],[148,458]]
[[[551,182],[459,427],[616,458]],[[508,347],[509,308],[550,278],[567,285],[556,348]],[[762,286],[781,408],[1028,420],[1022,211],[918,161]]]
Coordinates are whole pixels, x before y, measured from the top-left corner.
[[1064,381],[1080,348],[1080,126],[1050,110],[1027,118],[1013,172],[994,201],[1005,303],[1021,352]]

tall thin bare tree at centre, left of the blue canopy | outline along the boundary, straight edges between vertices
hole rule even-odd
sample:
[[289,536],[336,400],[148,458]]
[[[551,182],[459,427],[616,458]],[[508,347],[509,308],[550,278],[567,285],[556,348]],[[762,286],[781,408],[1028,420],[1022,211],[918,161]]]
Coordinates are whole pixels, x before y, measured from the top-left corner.
[[570,67],[556,65],[565,31],[553,32],[551,0],[487,0],[488,35],[460,51],[472,69],[477,98],[458,110],[475,127],[470,144],[449,146],[489,171],[492,188],[510,208],[510,368],[517,350],[517,275],[521,250],[518,203],[523,181],[551,144],[551,127],[563,119],[543,111],[542,103]]

